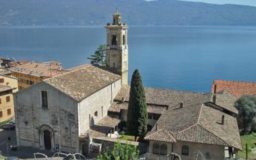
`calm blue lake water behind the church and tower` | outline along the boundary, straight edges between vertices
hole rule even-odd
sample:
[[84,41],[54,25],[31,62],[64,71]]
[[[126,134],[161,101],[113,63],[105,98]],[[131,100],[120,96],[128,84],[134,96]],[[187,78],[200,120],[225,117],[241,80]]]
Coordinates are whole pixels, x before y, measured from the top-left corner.
[[[0,27],[0,56],[60,61],[66,69],[90,63],[103,27]],[[129,79],[143,85],[210,92],[214,79],[256,81],[256,27],[130,27]]]

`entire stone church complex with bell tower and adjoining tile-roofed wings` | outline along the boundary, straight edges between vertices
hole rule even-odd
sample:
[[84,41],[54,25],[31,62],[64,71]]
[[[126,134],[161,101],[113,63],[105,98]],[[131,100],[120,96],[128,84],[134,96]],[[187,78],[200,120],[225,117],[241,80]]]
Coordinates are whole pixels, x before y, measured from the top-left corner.
[[[93,147],[104,152],[108,142],[118,141],[110,133],[125,130],[127,120],[129,27],[117,11],[105,28],[106,67],[82,65],[15,93],[18,146],[87,156]],[[149,132],[142,148],[148,149],[146,159],[171,153],[191,159],[196,151],[222,159],[242,150],[238,111],[233,106],[236,97],[228,91],[145,90]]]

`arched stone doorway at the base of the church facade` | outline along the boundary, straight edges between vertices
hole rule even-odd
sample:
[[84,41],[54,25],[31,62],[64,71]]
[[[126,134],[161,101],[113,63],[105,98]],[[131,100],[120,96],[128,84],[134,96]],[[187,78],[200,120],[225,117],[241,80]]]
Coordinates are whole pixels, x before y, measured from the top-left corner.
[[43,124],[38,128],[40,149],[55,151],[55,133],[51,126]]

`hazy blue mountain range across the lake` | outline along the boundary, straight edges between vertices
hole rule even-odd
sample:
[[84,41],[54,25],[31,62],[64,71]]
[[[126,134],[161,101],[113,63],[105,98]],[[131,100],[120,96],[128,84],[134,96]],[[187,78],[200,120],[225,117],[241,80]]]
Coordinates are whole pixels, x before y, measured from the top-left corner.
[[104,25],[116,7],[129,25],[256,25],[256,7],[177,0],[0,0],[0,25]]

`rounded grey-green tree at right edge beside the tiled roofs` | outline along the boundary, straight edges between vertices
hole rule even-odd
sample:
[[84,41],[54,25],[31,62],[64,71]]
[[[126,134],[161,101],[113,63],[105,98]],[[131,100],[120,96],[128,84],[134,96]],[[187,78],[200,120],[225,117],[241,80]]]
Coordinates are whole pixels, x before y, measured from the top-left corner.
[[243,133],[248,134],[251,126],[256,122],[256,97],[251,95],[243,95],[235,103],[234,106],[238,110],[238,117],[243,122]]

